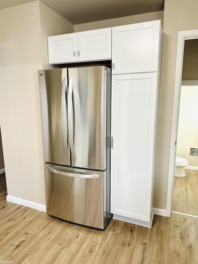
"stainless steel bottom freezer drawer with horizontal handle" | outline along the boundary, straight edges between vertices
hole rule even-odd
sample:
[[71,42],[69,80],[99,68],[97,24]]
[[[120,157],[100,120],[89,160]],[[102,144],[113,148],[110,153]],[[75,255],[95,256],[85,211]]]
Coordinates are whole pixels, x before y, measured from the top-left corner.
[[80,170],[48,163],[44,166],[47,214],[104,229],[106,171]]

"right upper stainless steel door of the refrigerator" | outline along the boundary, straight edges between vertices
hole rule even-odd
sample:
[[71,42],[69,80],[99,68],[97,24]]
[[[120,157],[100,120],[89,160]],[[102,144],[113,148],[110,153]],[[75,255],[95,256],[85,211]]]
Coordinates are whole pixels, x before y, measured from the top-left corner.
[[71,166],[106,169],[104,66],[68,69],[68,132]]

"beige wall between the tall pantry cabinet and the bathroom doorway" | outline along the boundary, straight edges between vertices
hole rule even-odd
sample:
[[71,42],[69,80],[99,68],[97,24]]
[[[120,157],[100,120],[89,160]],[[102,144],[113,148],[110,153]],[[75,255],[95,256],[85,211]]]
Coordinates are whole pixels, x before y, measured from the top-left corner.
[[165,0],[154,207],[166,209],[178,31],[198,28],[197,0]]

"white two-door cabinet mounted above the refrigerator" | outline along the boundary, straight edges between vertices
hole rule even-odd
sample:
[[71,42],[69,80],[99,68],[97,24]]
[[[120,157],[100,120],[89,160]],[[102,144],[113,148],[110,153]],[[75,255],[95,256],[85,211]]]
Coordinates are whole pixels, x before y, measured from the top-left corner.
[[48,37],[49,64],[111,59],[111,28]]

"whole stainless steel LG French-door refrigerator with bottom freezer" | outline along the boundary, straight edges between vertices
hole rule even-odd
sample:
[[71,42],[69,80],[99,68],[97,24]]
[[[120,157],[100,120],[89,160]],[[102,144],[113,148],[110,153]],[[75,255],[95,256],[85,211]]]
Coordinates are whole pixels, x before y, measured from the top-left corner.
[[104,229],[110,214],[111,72],[38,71],[47,214]]

